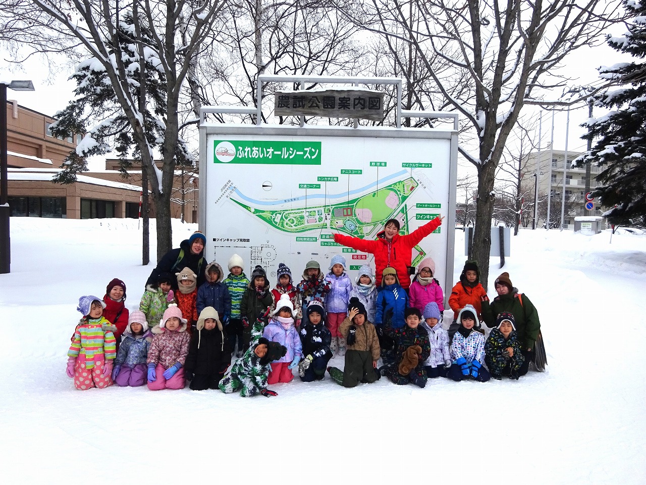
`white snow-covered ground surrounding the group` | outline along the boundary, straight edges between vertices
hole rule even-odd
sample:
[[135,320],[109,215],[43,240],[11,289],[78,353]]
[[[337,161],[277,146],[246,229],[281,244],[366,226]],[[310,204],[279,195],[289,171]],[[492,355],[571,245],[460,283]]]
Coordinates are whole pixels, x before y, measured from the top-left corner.
[[[425,389],[384,378],[344,389],[326,375],[272,386],[280,395],[267,399],[76,391],[65,365],[78,297],[102,297],[120,277],[126,305],[138,307],[152,269],[141,266],[138,222],[12,218],[11,227],[12,272],[0,275],[5,484],[646,482],[646,235],[512,237],[504,270],[538,308],[543,374],[439,378]],[[174,224],[174,247],[195,229]],[[498,266],[492,258],[491,282]]]

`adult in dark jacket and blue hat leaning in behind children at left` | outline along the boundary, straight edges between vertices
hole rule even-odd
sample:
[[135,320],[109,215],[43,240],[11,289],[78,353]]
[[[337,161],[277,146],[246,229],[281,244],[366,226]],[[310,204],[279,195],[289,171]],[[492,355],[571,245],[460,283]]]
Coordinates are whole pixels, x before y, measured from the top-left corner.
[[[193,273],[198,275],[197,286],[202,286],[205,281],[204,269],[206,267],[206,260],[203,257],[204,246],[206,245],[206,236],[201,232],[194,232],[189,239],[185,239],[177,249],[172,249],[167,252],[157,263],[157,267],[152,270],[151,275],[146,281],[146,289],[150,289],[152,285],[156,285],[160,273],[176,274],[183,270],[183,268],[191,268]],[[173,279],[172,289],[177,290],[178,283]]]

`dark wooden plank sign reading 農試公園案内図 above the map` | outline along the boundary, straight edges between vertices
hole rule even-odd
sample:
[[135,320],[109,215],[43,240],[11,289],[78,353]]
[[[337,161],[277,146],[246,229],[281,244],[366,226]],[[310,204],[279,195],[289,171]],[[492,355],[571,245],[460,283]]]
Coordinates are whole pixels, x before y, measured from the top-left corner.
[[274,98],[276,116],[323,116],[324,118],[384,118],[384,93],[364,89],[324,91],[278,91]]

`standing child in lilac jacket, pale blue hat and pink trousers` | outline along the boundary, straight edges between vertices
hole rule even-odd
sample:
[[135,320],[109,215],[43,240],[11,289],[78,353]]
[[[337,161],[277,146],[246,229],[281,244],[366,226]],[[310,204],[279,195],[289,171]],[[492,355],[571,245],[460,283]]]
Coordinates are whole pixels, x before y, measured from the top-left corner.
[[329,263],[329,273],[326,275],[329,281],[330,290],[325,296],[325,309],[327,318],[326,327],[332,336],[329,350],[332,353],[339,352],[340,356],[346,354],[346,339],[339,333],[339,325],[348,316],[348,303],[352,290],[352,281],[346,273],[346,258],[335,254]]

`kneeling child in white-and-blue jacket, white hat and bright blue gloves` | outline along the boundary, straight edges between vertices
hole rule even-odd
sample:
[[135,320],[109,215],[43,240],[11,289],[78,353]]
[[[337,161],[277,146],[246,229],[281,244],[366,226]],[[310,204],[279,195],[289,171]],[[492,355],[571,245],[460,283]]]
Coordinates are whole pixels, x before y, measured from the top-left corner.
[[448,376],[454,381],[472,378],[486,382],[491,376],[482,365],[485,357],[485,336],[474,329],[478,324],[475,308],[466,305],[460,310],[457,320],[460,327],[451,343],[453,365],[448,370]]

